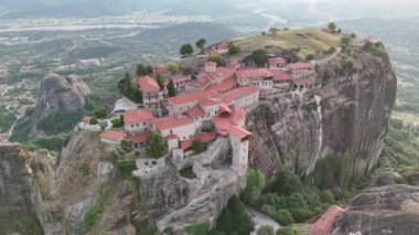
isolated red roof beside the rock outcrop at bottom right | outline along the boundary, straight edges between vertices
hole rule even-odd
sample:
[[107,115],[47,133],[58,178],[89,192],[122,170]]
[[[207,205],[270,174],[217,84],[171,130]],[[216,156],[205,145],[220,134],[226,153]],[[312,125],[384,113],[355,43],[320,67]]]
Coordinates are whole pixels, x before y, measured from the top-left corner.
[[312,235],[329,235],[333,232],[333,223],[335,218],[342,215],[345,210],[337,205],[332,205],[314,224],[310,226]]

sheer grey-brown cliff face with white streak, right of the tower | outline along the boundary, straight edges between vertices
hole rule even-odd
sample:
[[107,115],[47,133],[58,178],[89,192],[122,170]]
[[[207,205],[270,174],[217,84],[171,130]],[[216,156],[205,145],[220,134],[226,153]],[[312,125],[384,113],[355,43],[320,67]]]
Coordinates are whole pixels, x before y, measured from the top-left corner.
[[319,76],[314,89],[284,95],[250,114],[253,165],[271,174],[279,156],[287,168],[310,174],[319,158],[344,152],[358,175],[376,164],[397,88],[387,55],[362,53],[353,70],[336,60]]

